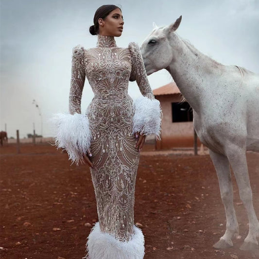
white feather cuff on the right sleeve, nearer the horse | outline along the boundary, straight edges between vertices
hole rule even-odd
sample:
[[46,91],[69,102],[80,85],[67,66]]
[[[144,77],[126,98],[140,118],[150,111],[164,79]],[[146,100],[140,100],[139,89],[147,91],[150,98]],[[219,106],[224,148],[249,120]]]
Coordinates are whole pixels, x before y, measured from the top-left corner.
[[140,96],[134,100],[134,107],[132,134],[139,131],[144,135],[155,135],[157,139],[161,140],[162,110],[160,102],[156,99]]

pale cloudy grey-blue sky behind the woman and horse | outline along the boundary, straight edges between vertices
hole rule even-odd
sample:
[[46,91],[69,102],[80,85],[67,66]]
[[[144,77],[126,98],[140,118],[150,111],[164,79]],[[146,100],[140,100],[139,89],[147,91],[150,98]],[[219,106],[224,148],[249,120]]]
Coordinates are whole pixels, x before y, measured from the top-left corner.
[[[68,112],[72,48],[96,46],[88,28],[103,4],[121,7],[124,29],[117,45],[139,45],[152,31],[182,15],[178,35],[225,65],[259,73],[259,0],[1,0],[0,1],[0,130],[21,138],[33,132],[52,136],[48,118]],[[152,89],[172,82],[165,70],[148,76]],[[140,95],[136,82],[129,94]],[[85,83],[82,113],[93,98]],[[39,110],[33,104],[38,104]]]

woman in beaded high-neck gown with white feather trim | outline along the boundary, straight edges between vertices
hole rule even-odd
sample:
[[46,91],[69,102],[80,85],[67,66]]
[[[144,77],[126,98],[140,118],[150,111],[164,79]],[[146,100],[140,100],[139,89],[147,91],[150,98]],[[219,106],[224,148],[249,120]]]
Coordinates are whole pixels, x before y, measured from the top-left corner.
[[[86,251],[89,259],[142,259],[144,237],[134,225],[134,193],[139,152],[146,135],[159,138],[161,109],[154,98],[139,47],[119,48],[115,36],[123,30],[116,5],[99,7],[94,25],[97,47],[72,51],[69,114],[57,114],[56,142],[69,159],[90,166],[99,222],[92,228]],[[94,98],[81,114],[87,77]],[[142,96],[133,102],[129,81],[137,81]]]

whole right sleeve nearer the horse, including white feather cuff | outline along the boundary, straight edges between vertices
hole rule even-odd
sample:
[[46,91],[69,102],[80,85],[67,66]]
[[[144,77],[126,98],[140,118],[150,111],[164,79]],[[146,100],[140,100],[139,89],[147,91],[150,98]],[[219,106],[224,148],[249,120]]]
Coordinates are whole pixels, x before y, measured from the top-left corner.
[[130,81],[138,84],[141,96],[134,100],[134,117],[132,133],[140,132],[144,135],[155,135],[160,140],[162,110],[160,102],[155,99],[148,82],[142,54],[135,42],[129,43],[131,53]]

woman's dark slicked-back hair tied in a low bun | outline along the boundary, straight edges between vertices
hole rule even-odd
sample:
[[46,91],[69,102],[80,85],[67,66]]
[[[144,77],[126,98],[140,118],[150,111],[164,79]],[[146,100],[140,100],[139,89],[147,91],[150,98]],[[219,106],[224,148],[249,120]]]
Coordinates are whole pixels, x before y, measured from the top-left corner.
[[94,17],[93,17],[94,25],[89,27],[89,32],[91,35],[99,34],[98,19],[99,18],[105,19],[109,15],[109,13],[112,12],[116,8],[119,8],[121,10],[120,7],[118,7],[117,5],[114,5],[114,4],[104,4],[96,10]]

